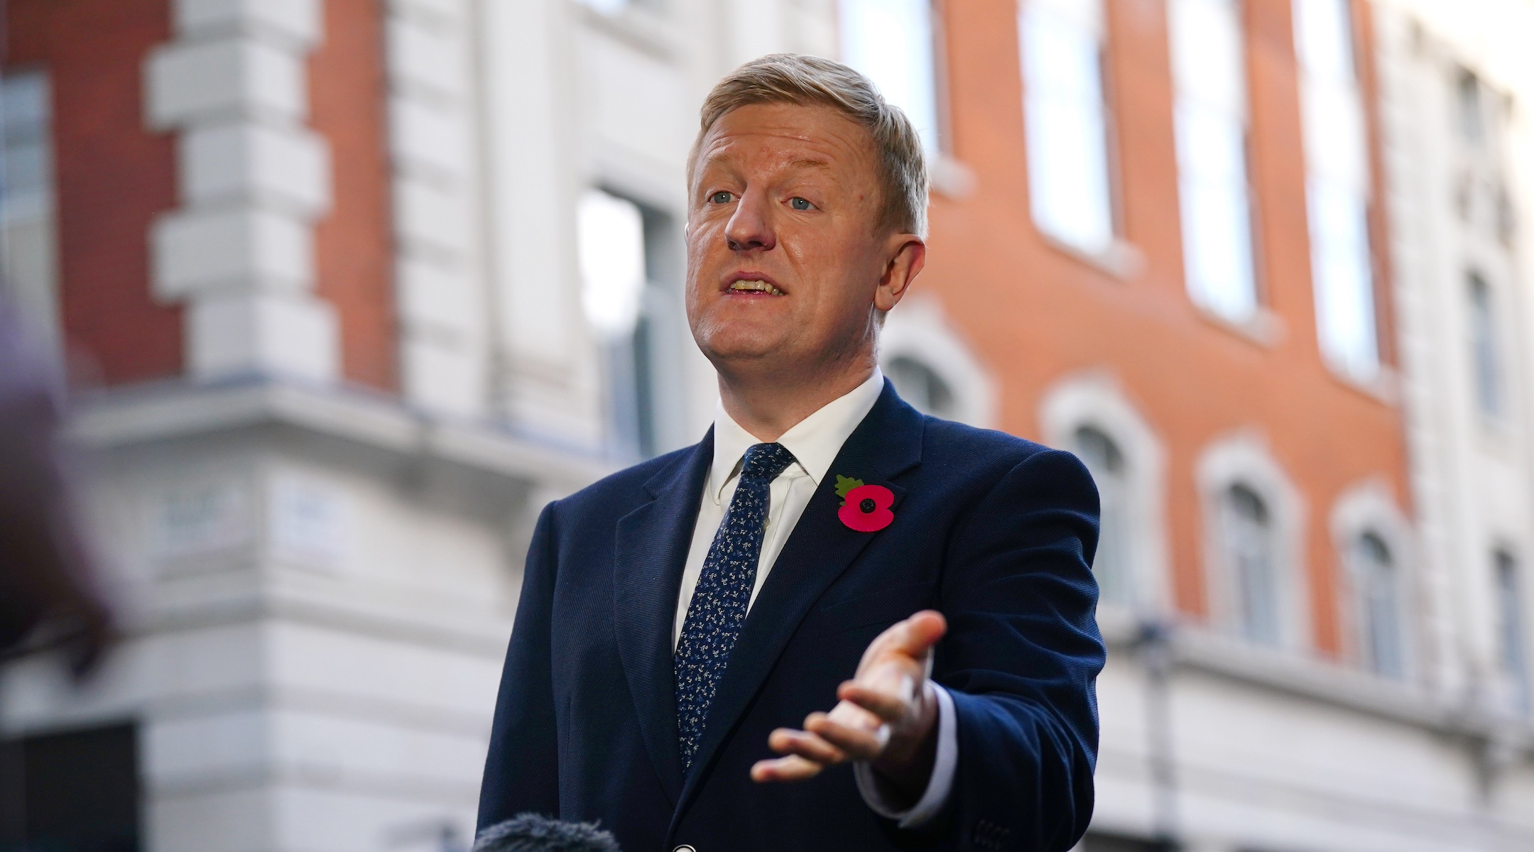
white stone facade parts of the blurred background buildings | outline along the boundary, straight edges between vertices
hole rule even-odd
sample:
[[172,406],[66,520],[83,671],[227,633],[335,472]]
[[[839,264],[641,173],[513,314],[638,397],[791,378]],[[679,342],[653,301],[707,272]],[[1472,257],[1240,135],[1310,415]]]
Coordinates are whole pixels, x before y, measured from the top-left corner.
[[[138,722],[152,852],[410,852],[468,837],[532,516],[629,460],[614,351],[581,311],[577,199],[603,188],[653,228],[650,449],[692,443],[715,405],[673,251],[696,106],[764,52],[838,52],[833,0],[390,0],[390,398],[341,383],[337,320],[314,296],[314,222],[344,156],[307,126],[322,3],[173,0],[173,40],[144,67],[144,123],[176,133],[181,195],[144,239],[156,297],[189,308],[187,375],[95,394],[75,423],[127,639],[83,690],[43,662],[0,679],[8,736]],[[1534,369],[1519,349],[1534,279],[1526,251],[1477,242],[1454,213],[1443,116],[1465,41],[1433,35],[1408,3],[1373,6],[1413,506],[1358,483],[1322,512],[1330,529],[1301,529],[1305,496],[1262,435],[1227,435],[1198,481],[1210,495],[1238,475],[1267,487],[1296,567],[1289,650],[1229,634],[1213,539],[1213,627],[1144,645],[1141,625],[1174,596],[1175,472],[1132,389],[1055,377],[1043,438],[1069,446],[1092,424],[1129,463],[1134,591],[1100,613],[1103,834],[1175,829],[1198,852],[1534,846],[1534,729],[1497,674],[1486,567],[1496,546],[1534,564]],[[1519,109],[1508,144],[1526,147]],[[974,179],[951,159],[942,175]],[[1513,245],[1531,245],[1531,222]],[[1513,408],[1490,431],[1456,300],[1474,253],[1509,299]],[[997,421],[994,366],[936,299],[902,305],[885,342],[887,360],[920,360],[951,386],[946,415]],[[1309,542],[1362,527],[1391,536],[1413,578],[1402,680],[1298,650]],[[1144,665],[1155,654],[1164,682]]]

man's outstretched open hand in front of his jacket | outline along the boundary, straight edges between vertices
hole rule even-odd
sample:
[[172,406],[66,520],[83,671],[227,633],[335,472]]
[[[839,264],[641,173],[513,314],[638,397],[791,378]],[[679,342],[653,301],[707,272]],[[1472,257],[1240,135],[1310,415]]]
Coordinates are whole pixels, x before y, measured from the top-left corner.
[[940,613],[922,610],[881,633],[856,676],[836,690],[841,700],[830,713],[811,713],[802,731],[778,728],[767,737],[784,757],[756,762],[752,780],[802,782],[864,760],[902,795],[920,798],[937,752],[937,696],[927,671],[946,631]]

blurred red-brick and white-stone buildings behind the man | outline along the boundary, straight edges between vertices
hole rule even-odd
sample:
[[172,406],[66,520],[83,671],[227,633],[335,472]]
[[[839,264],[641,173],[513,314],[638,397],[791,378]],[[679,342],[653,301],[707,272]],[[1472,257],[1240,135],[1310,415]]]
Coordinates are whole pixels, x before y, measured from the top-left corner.
[[1534,3],[6,15],[5,273],[101,382],[126,637],[0,673],[0,850],[471,835],[532,518],[709,423],[684,161],[772,51],[928,144],[887,375],[1098,481],[1085,849],[1534,847]]

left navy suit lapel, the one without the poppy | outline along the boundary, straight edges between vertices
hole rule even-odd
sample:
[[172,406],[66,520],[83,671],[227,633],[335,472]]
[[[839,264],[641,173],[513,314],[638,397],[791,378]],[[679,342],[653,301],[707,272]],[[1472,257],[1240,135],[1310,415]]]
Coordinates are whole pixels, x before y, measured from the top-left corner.
[[672,804],[681,795],[672,625],[681,575],[698,521],[709,464],[710,429],[676,464],[644,484],[655,500],[618,519],[612,610],[618,656],[640,716],[640,734]]

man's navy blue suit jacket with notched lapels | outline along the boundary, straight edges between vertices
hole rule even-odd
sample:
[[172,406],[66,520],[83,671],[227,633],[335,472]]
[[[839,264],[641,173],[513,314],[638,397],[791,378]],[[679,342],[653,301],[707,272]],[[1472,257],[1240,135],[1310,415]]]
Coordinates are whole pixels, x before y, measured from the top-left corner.
[[[549,504],[506,653],[480,827],[535,811],[600,820],[626,852],[1069,849],[1092,814],[1097,490],[1074,455],[923,417],[885,383],[752,605],[683,775],[672,625],[712,432]],[[836,475],[894,492],[844,526]],[[758,785],[767,734],[836,703],[864,648],[923,608],[948,618],[933,677],[959,763],[919,831],[877,817],[851,768]]]

